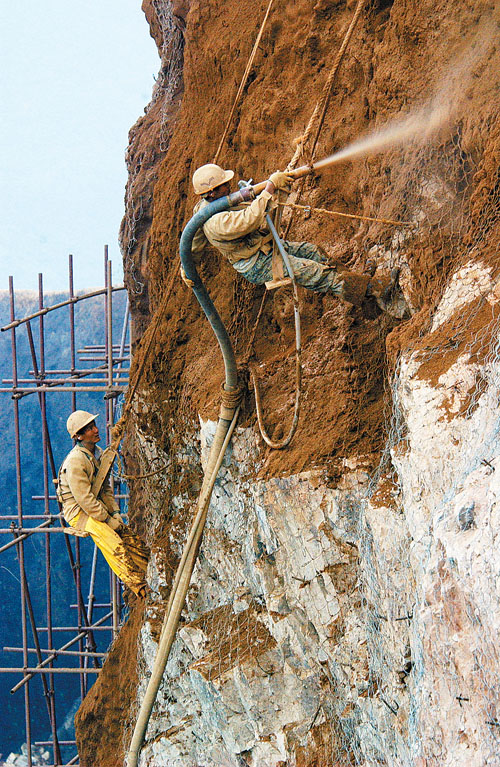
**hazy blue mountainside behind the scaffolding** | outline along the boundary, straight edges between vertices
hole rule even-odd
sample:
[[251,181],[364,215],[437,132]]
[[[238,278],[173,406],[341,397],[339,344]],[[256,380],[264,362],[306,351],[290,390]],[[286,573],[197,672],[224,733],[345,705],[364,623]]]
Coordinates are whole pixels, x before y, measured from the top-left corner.
[[[64,301],[67,294],[51,293],[46,296],[45,305],[51,306]],[[32,292],[21,291],[15,294],[16,318],[27,316],[38,310],[38,295]],[[88,344],[104,343],[104,301],[103,297],[86,299],[75,304],[76,347],[81,349]],[[113,341],[119,343],[122,334],[122,323],[126,306],[125,291],[113,294],[114,322]],[[9,296],[6,291],[0,291],[0,326],[10,322]],[[45,325],[45,367],[46,369],[63,370],[70,366],[70,326],[69,308],[63,307],[47,314],[44,317]],[[40,365],[40,342],[39,320],[31,322],[33,340],[35,344],[38,365]],[[18,352],[18,378],[29,378],[33,370],[33,361],[30,353],[30,345],[26,326],[22,325],[16,330],[16,344]],[[77,358],[78,359],[78,358]],[[78,363],[77,363],[78,364]],[[87,366],[95,366],[100,363],[87,363]],[[85,365],[78,364],[79,367]],[[11,357],[11,332],[0,333],[0,386],[5,379],[12,379]],[[104,423],[104,399],[102,392],[86,393],[77,395],[77,407],[99,413],[101,423]],[[54,460],[59,467],[66,453],[71,449],[71,441],[66,431],[66,418],[71,411],[71,395],[66,393],[49,393],[46,397],[47,413],[49,420],[49,433],[52,442]],[[22,465],[22,501],[25,514],[43,514],[43,501],[32,500],[34,495],[43,495],[43,462],[42,462],[42,431],[38,396],[30,394],[19,400],[19,415],[21,428],[21,465]],[[0,528],[8,529],[11,521],[6,517],[17,514],[17,488],[15,471],[15,440],[13,403],[9,393],[0,393],[0,434],[2,435],[2,449],[0,458],[0,487],[3,489],[2,502],[0,504]],[[51,479],[51,477],[49,478]],[[50,484],[51,494],[52,484]],[[50,502],[51,510],[58,511],[55,501]],[[31,523],[33,524],[33,523]],[[46,538],[37,534],[31,536],[25,543],[24,552],[29,590],[33,609],[38,626],[46,626]],[[0,547],[11,540],[10,534],[0,536]],[[71,539],[73,550],[75,541]],[[88,591],[88,577],[90,562],[93,553],[93,545],[89,540],[79,542],[82,561],[82,579],[84,597]],[[71,607],[75,604],[75,588],[72,572],[68,564],[63,535],[50,535],[51,554],[51,582],[52,582],[52,613],[53,624],[59,626],[72,626],[76,623],[76,610]],[[97,594],[99,601],[99,589],[109,583],[109,570],[101,555],[98,557]],[[104,592],[103,592],[104,593]],[[102,601],[102,599],[100,600]],[[96,610],[97,617],[104,611]],[[53,644],[60,647],[69,641],[74,632],[55,632]],[[28,629],[28,644],[33,647],[33,637]],[[47,647],[47,634],[40,633],[42,646]],[[106,649],[109,634],[96,632],[99,640],[99,650]],[[0,653],[2,654],[2,667],[20,667],[22,654],[18,652],[3,652],[5,646],[21,647],[21,599],[20,599],[20,571],[15,548],[0,552]],[[75,649],[74,647],[71,649]],[[36,656],[30,653],[30,665],[36,663]],[[64,659],[64,660],[62,660]],[[76,665],[76,656],[61,656],[56,665]],[[2,728],[0,730],[0,761],[1,755],[6,756],[11,751],[19,752],[21,744],[25,740],[24,720],[24,692],[20,689],[14,695],[9,694],[11,687],[16,684],[21,675],[0,674],[0,700],[2,710]],[[60,674],[55,677],[55,702],[58,727],[63,725],[68,711],[74,706],[75,700],[80,695],[80,684],[77,676]],[[91,682],[93,677],[91,677]],[[50,725],[47,714],[46,701],[39,678],[30,682],[30,708],[32,737],[35,740],[49,740]],[[64,732],[64,739],[73,736]],[[74,747],[63,754],[74,754]],[[52,758],[52,753],[51,753]],[[52,764],[53,762],[50,761]]]

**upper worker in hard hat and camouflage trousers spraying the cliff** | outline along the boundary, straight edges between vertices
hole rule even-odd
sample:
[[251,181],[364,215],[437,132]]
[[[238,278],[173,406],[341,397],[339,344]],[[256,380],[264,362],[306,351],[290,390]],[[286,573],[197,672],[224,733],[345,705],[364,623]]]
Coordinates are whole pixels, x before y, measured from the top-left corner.
[[[234,171],[224,170],[209,163],[193,174],[195,194],[201,196],[194,213],[213,200],[231,192]],[[251,200],[222,213],[216,213],[196,233],[192,253],[197,255],[208,243],[213,245],[245,279],[261,285],[273,279],[272,235],[266,223],[266,214],[276,207],[275,195],[279,190],[288,191],[293,181],[287,172],[273,173],[265,189],[255,196],[251,187],[242,191]],[[331,293],[338,298],[360,306],[364,301],[374,300],[380,309],[393,316],[403,317],[407,305],[398,284],[399,270],[393,270],[390,278],[374,278],[375,262],[366,264],[364,273],[353,272],[343,265],[328,263],[325,251],[310,242],[283,243],[288,253],[295,281],[305,288],[319,293]],[[181,275],[186,284],[182,268]]]

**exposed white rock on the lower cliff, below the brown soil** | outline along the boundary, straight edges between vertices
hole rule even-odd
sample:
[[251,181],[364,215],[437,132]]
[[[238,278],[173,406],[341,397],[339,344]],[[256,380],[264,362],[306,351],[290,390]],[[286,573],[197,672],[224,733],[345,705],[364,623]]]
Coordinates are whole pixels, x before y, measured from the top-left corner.
[[[467,303],[452,287],[435,327]],[[337,487],[257,479],[254,433],[237,430],[141,767],[500,765],[500,365],[466,352],[433,385],[422,362],[399,366],[376,482],[361,457]],[[159,593],[161,552],[150,577]],[[148,622],[141,643],[139,699]]]

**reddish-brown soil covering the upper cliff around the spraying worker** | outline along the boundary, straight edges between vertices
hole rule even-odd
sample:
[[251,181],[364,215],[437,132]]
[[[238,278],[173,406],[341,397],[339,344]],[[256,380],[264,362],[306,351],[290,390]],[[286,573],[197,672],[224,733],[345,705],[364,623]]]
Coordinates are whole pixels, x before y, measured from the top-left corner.
[[[218,410],[222,359],[198,304],[177,277],[178,243],[195,203],[191,175],[213,158],[266,6],[239,0],[173,2],[169,27],[167,0],[143,3],[162,51],[162,79],[149,111],[131,132],[122,236],[136,365],[141,335],[172,272],[176,275],[141,385],[144,397],[155,403],[155,423],[149,429],[162,446],[174,440],[170,424],[180,406],[181,426],[187,430],[198,413],[215,417]],[[220,157],[237,177],[263,180],[287,165],[355,6],[354,0],[276,2]],[[387,384],[399,352],[426,348],[431,313],[450,275],[471,254],[498,270],[499,16],[493,0],[464,0],[459,7],[452,0],[367,0],[335,81],[317,158],[408,113],[440,90],[453,103],[452,123],[427,142],[389,148],[314,176],[302,202],[419,226],[299,213],[289,239],[319,243],[332,260],[351,268],[361,269],[368,253],[381,268],[400,266],[413,316],[402,323],[386,315],[366,317],[347,303],[301,289],[302,416],[288,449],[266,455],[263,446],[266,473],[320,465],[334,481],[349,457],[363,456],[375,465],[386,439]],[[263,288],[245,283],[215,252],[207,252],[200,274],[241,361]],[[456,330],[457,318],[450,323],[441,334],[450,335],[453,324]],[[439,343],[446,343],[446,337]],[[281,290],[267,299],[254,350],[262,364],[266,421],[274,438],[287,430],[293,411],[293,347],[292,304]],[[433,356],[429,376],[452,360],[453,355]],[[243,423],[255,424],[251,391]],[[131,445],[133,450],[133,439]],[[143,499],[136,500],[140,507]],[[93,699],[99,694],[106,694],[101,680]],[[105,732],[108,725],[118,725],[103,708],[104,703]],[[111,767],[118,762],[105,746],[109,733],[102,743],[97,736],[87,739],[89,715],[84,706],[81,763]],[[121,735],[113,742],[121,749]]]

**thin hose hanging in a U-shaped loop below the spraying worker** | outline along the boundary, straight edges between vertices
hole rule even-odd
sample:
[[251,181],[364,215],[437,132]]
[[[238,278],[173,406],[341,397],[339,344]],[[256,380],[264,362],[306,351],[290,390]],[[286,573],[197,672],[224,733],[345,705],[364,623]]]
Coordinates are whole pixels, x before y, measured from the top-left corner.
[[274,226],[273,220],[269,214],[267,214],[266,216],[266,221],[271,231],[271,234],[273,235],[274,242],[276,243],[276,246],[283,259],[283,263],[285,264],[286,270],[288,272],[288,276],[290,277],[292,281],[293,313],[294,313],[294,320],[295,320],[295,405],[293,409],[292,424],[290,426],[288,434],[279,442],[276,442],[275,440],[271,439],[264,425],[259,382],[258,382],[253,366],[250,366],[250,375],[252,377],[252,383],[253,383],[253,388],[255,392],[255,409],[257,411],[257,423],[259,424],[259,431],[260,431],[261,437],[266,443],[266,445],[269,445],[269,447],[274,448],[274,450],[282,450],[284,447],[287,447],[287,445],[290,444],[293,438],[293,435],[295,434],[297,430],[297,426],[299,423],[299,415],[300,415],[300,401],[301,401],[301,394],[302,394],[302,341],[301,341],[301,333],[300,333],[299,295],[297,292],[297,283],[295,282],[295,275],[293,273],[293,269],[290,264],[290,259],[288,258],[288,253],[283,247],[283,243],[281,242],[278,232],[276,231],[276,227]]

